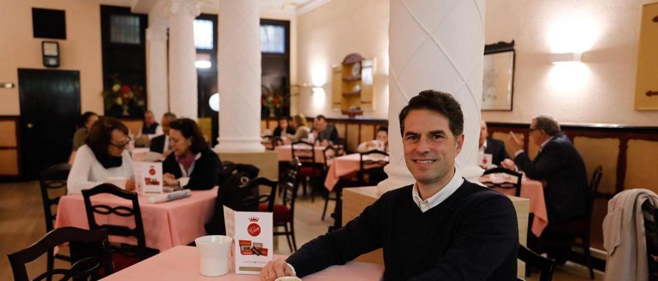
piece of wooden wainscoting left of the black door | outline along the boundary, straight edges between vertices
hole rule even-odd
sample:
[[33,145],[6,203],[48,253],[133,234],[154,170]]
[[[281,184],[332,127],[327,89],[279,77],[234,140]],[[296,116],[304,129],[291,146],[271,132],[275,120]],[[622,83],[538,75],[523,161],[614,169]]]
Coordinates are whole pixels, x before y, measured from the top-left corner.
[[0,116],[0,178],[20,177],[18,116]]

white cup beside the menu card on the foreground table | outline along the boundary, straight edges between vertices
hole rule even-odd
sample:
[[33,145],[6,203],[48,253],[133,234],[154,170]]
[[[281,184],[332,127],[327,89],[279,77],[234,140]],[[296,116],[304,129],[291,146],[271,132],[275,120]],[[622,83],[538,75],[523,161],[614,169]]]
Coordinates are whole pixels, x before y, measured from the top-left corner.
[[233,238],[224,235],[208,235],[196,238],[199,249],[199,270],[203,276],[220,276],[228,273],[228,255]]

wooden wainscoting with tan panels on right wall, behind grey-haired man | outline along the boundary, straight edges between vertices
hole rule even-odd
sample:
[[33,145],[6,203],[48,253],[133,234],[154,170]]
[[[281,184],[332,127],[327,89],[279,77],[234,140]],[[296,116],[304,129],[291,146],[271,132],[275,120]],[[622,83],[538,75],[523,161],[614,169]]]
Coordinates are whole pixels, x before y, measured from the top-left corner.
[[[528,123],[487,123],[489,134],[505,142],[510,131],[524,138],[524,147],[531,158],[538,146],[528,144]],[[603,177],[595,196],[592,214],[592,247],[603,250],[601,225],[607,213],[607,202],[615,194],[630,188],[647,188],[658,193],[658,127],[618,125],[563,124],[567,134],[582,156],[588,181],[597,165],[603,166]]]

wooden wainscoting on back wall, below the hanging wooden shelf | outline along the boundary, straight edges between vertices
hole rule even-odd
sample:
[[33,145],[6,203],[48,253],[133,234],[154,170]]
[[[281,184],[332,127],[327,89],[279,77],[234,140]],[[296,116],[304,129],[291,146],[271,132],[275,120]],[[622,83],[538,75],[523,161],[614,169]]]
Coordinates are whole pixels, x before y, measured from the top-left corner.
[[[315,118],[307,117],[309,127],[313,125],[314,119]],[[345,139],[347,152],[357,151],[357,146],[359,146],[361,142],[375,139],[378,127],[388,126],[387,119],[327,118],[327,121],[336,126],[338,137]],[[276,118],[261,119],[261,135],[265,135],[266,129],[273,132],[274,128],[276,128],[276,123]]]

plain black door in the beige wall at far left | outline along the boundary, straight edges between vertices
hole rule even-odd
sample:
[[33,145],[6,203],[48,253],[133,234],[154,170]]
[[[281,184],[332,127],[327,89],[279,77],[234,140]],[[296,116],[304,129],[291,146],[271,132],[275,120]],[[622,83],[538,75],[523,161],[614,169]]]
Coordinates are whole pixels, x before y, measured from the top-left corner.
[[68,161],[80,116],[80,72],[18,69],[20,162],[26,179]]

